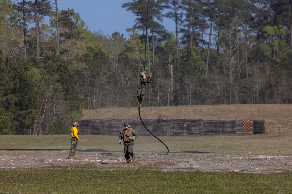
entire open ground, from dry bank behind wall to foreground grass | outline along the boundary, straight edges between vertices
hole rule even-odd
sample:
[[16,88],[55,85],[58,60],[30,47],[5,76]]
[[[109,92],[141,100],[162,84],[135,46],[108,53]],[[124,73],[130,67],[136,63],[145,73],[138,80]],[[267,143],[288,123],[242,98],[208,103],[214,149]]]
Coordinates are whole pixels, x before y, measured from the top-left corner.
[[[139,136],[133,165],[118,162],[118,136],[80,136],[79,160],[68,159],[68,135],[1,136],[0,193],[292,193],[291,111],[290,104],[142,107],[142,118],[265,120],[266,133],[159,137],[168,155],[154,137]],[[139,113],[105,108],[83,118]]]

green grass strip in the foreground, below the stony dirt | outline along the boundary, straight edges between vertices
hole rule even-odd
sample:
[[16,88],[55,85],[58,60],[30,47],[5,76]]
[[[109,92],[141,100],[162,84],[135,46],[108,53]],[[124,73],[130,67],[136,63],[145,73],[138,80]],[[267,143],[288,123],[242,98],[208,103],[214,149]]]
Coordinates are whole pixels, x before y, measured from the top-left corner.
[[292,193],[291,175],[74,166],[1,171],[0,193]]

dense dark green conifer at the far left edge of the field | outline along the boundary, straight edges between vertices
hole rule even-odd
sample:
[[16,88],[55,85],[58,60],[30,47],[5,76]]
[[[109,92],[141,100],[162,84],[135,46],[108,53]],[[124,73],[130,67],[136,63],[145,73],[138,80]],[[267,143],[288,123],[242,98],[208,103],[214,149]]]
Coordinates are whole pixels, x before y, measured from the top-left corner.
[[1,107],[6,113],[1,111],[2,118],[12,118],[11,123],[6,123],[7,133],[27,134],[32,128],[36,110],[34,107],[38,103],[35,83],[30,76],[27,76],[29,66],[26,61],[20,60],[18,65],[10,62],[6,65],[0,61],[0,71],[3,79],[0,81]]

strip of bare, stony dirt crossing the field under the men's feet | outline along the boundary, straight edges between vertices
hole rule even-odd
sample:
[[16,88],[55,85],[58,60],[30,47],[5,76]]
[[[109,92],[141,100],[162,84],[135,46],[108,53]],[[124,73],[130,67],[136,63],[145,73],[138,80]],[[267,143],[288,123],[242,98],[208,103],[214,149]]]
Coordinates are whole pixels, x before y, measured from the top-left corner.
[[135,168],[172,172],[245,172],[277,173],[292,169],[288,156],[226,156],[210,154],[172,154],[159,155],[136,151],[135,161],[127,163],[123,153],[81,153],[78,159],[68,156],[47,155],[1,155],[0,170],[46,169],[56,166],[92,165],[106,170],[115,168]]

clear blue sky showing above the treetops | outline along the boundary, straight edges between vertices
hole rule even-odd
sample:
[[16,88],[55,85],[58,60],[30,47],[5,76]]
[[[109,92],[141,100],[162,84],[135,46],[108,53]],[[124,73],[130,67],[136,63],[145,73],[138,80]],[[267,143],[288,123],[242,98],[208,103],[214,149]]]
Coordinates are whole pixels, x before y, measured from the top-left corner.
[[[91,31],[102,30],[104,35],[112,35],[114,32],[124,34],[128,39],[127,28],[131,28],[135,22],[135,15],[126,8],[123,3],[132,0],[58,0],[58,9],[73,9],[78,12],[81,19]],[[164,18],[162,25],[171,32],[175,31],[175,22]]]

